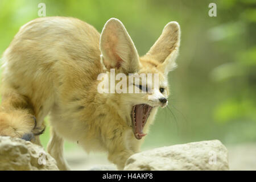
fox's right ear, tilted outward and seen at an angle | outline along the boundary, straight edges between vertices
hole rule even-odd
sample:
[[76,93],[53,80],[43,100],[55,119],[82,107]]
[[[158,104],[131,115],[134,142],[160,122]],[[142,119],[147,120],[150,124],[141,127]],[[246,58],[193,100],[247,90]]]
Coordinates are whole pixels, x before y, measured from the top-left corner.
[[176,68],[175,59],[180,46],[180,26],[177,22],[170,22],[164,27],[162,34],[147,52],[146,56],[159,62],[158,67],[164,73]]

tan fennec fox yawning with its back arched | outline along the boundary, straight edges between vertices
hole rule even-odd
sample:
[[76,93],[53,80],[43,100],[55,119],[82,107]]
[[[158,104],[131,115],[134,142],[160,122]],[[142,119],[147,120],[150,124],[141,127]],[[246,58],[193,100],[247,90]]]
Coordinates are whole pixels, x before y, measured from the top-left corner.
[[[101,34],[75,18],[28,22],[2,57],[0,135],[40,144],[49,114],[47,149],[59,169],[69,169],[64,139],[86,151],[107,151],[110,162],[123,169],[127,158],[139,151],[158,107],[167,105],[167,75],[176,67],[179,44],[177,22],[168,23],[142,57],[115,18],[106,22]],[[159,85],[139,94],[100,93],[98,75],[110,75],[110,69],[127,78],[129,73],[158,73]]]

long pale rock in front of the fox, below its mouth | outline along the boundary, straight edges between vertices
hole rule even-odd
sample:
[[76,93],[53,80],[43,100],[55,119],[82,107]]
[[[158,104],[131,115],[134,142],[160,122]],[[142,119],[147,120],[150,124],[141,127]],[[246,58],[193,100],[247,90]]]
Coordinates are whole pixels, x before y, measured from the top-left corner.
[[160,147],[130,156],[125,170],[229,170],[228,150],[219,140]]

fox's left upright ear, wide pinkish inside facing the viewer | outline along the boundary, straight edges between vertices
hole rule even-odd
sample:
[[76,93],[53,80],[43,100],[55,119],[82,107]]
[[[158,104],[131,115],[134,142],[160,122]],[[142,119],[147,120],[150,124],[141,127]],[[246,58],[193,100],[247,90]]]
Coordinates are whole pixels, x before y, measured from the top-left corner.
[[139,68],[137,50],[122,22],[111,18],[106,22],[100,38],[101,61],[107,69],[122,68],[134,73]]

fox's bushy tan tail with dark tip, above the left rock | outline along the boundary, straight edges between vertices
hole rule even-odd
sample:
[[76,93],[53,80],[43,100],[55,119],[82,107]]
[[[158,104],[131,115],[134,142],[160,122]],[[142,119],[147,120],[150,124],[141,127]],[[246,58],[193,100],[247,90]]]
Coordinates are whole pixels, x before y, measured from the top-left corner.
[[34,139],[45,128],[36,126],[36,118],[29,98],[22,96],[15,89],[9,89],[2,94],[0,107],[0,135]]

